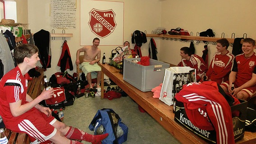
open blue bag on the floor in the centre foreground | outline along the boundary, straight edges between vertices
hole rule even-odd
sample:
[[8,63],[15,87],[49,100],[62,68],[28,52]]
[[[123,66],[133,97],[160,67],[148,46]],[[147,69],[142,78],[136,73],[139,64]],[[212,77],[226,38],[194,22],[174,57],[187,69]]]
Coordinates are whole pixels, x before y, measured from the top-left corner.
[[123,144],[127,140],[128,127],[121,122],[121,118],[111,108],[98,110],[89,125],[94,135],[108,133],[102,144]]

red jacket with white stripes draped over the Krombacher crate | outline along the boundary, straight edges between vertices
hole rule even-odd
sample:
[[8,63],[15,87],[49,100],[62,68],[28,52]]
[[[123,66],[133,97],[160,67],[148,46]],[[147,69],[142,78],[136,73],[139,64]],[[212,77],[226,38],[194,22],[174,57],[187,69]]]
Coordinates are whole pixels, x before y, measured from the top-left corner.
[[202,130],[213,130],[214,127],[217,144],[235,144],[231,109],[215,81],[189,83],[175,98],[184,103],[193,125]]

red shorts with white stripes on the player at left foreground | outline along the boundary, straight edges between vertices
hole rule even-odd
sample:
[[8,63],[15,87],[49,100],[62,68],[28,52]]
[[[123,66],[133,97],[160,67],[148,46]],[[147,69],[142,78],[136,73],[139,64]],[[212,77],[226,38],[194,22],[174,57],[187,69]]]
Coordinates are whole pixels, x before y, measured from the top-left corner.
[[19,117],[20,121],[14,122],[11,130],[27,133],[31,144],[38,144],[50,139],[55,135],[57,129],[52,124],[57,121],[54,117],[47,117],[46,114],[32,108]]

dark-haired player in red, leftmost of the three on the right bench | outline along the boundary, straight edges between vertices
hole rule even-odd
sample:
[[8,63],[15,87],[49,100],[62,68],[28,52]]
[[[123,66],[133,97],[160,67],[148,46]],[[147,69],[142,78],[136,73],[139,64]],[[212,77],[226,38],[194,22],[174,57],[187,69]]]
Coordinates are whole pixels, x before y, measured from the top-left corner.
[[181,62],[178,63],[178,67],[191,67],[196,69],[197,82],[201,80],[204,73],[207,71],[206,64],[200,56],[192,54],[189,47],[182,47],[180,49]]

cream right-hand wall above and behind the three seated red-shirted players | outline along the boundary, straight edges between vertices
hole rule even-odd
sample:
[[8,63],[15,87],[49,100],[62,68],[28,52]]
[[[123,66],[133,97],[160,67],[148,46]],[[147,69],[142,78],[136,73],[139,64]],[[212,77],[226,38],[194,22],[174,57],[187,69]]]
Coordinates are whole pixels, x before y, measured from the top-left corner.
[[[255,0],[165,0],[162,2],[161,25],[167,30],[181,27],[192,31],[193,36],[197,32],[211,28],[216,36],[221,37],[224,32],[225,38],[247,37],[256,39],[256,9]],[[195,43],[194,43],[195,44]],[[209,42],[209,63],[216,52],[215,45]],[[180,48],[190,45],[189,42],[160,40],[160,60],[173,64],[180,61]],[[204,43],[195,44],[196,54],[202,55]],[[228,49],[232,51],[232,47]]]

